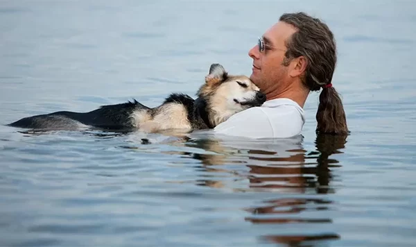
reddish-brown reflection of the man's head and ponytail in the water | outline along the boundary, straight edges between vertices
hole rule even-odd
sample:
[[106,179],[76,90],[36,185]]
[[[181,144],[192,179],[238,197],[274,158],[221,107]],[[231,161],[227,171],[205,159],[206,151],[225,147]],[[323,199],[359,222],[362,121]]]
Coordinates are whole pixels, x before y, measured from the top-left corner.
[[[250,169],[250,173],[253,174],[254,179],[250,179],[250,184],[259,183],[257,185],[259,187],[291,188],[294,190],[293,193],[297,194],[313,194],[309,189],[313,189],[315,194],[336,193],[335,189],[330,185],[332,179],[331,169],[341,166],[339,164],[333,165],[338,163],[338,161],[330,160],[329,156],[332,153],[341,153],[340,149],[345,147],[346,137],[318,135],[315,141],[317,152],[304,155],[306,151],[298,150],[297,152],[299,153],[297,154],[281,158],[279,161],[286,161],[288,164],[280,164],[279,167],[274,167],[272,164],[270,164],[270,167],[253,166]],[[270,159],[270,161],[274,160]],[[259,175],[263,176],[260,177]],[[278,185],[264,185],[265,182],[270,181],[277,182]],[[304,219],[302,216],[299,216],[306,210],[321,212],[329,210],[332,203],[329,200],[291,197],[278,198],[264,201],[263,203],[267,204],[267,206],[250,208],[249,210],[253,216],[246,218],[246,220],[257,224],[332,223],[330,218]],[[264,238],[279,244],[287,244],[287,246],[299,246],[304,241],[339,239],[340,235],[333,232],[322,235],[268,235],[264,236]]]

